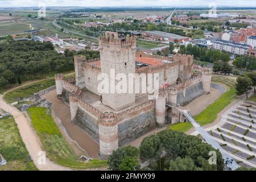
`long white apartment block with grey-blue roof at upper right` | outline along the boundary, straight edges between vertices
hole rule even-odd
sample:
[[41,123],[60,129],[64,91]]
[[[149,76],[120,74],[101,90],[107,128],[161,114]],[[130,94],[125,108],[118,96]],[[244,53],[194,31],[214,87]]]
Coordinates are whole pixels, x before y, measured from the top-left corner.
[[250,46],[248,46],[247,44],[228,42],[225,40],[216,40],[213,44],[213,48],[220,51],[230,52],[236,55],[246,55],[247,50],[250,48]]

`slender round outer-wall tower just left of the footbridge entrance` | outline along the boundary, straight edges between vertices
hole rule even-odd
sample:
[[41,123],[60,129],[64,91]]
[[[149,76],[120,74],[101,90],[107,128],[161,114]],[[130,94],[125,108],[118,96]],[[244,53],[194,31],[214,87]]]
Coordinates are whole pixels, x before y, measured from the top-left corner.
[[165,125],[166,121],[166,93],[160,92],[155,101],[155,116],[156,122],[160,127]]

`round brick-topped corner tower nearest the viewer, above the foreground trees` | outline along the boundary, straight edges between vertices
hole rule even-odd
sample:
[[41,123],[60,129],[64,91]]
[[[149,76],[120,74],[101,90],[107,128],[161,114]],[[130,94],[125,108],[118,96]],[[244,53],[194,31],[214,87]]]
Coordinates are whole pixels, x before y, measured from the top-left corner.
[[107,158],[112,151],[118,148],[118,120],[112,112],[104,113],[98,121],[100,134],[100,156]]

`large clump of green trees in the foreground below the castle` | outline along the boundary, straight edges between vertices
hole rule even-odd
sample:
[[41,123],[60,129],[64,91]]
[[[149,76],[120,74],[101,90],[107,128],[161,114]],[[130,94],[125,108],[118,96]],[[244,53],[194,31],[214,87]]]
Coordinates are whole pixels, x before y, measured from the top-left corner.
[[[208,162],[210,151],[216,152],[216,164]],[[162,164],[160,158],[164,152],[166,160]],[[159,168],[167,170],[224,170],[220,151],[200,138],[172,130],[164,130],[144,138],[139,149],[132,146],[118,148],[110,155],[108,163],[111,170],[139,170],[139,160],[159,160]]]

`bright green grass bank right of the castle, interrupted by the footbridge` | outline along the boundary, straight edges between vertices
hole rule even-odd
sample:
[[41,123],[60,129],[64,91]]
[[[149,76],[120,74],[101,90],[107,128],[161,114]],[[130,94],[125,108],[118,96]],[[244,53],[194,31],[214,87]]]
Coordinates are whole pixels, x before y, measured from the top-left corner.
[[[201,113],[195,116],[196,121],[199,122],[200,125],[212,123],[217,118],[217,114],[236,99],[236,89],[234,88],[236,81],[234,80],[234,77],[213,75],[212,82],[224,85],[228,90],[222,94],[220,98],[201,111]],[[176,123],[170,126],[170,129],[182,132],[186,132],[191,128],[192,125],[189,122]]]

